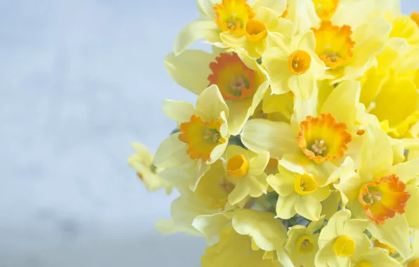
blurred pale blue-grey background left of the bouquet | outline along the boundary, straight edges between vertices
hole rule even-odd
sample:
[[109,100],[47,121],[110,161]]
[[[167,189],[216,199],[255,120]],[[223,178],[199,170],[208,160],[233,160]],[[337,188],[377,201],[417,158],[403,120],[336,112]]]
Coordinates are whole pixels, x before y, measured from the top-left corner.
[[163,99],[195,101],[162,62],[195,18],[192,0],[0,0],[0,267],[200,265],[203,240],[153,228],[176,194],[127,165],[174,129]]

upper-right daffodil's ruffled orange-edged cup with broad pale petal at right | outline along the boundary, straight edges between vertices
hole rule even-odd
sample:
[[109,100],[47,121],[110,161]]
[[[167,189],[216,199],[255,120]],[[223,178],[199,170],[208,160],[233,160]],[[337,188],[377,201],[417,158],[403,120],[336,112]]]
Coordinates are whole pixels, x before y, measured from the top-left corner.
[[316,53],[335,82],[354,79],[375,63],[374,57],[384,48],[390,30],[391,26],[383,18],[368,20],[356,29],[322,21],[319,27],[313,28]]

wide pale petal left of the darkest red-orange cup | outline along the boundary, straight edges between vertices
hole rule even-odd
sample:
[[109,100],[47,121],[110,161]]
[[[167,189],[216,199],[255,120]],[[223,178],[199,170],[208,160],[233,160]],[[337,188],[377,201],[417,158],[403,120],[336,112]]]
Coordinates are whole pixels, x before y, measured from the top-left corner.
[[209,63],[215,56],[201,50],[186,50],[179,56],[169,53],[164,62],[174,82],[199,95],[209,85]]

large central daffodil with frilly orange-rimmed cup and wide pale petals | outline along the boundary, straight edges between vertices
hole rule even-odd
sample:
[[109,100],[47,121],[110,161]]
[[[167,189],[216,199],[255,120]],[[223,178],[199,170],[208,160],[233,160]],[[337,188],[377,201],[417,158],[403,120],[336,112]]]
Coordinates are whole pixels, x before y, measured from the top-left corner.
[[346,160],[344,153],[352,140],[354,149],[349,152],[359,151],[356,132],[363,111],[358,98],[359,84],[345,81],[318,108],[315,89],[307,101],[295,98],[291,124],[249,120],[241,133],[243,144],[257,153],[268,151],[292,172],[321,178],[318,184],[323,187],[337,180],[332,174]]

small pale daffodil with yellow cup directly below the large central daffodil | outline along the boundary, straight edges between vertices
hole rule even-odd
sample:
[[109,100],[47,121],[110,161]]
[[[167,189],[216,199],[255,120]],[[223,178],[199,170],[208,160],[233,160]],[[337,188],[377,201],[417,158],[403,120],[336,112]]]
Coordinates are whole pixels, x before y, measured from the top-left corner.
[[321,202],[329,195],[329,187],[318,186],[311,174],[292,173],[279,167],[279,173],[268,177],[271,188],[278,193],[276,214],[281,219],[290,219],[299,214],[311,221],[318,221]]

